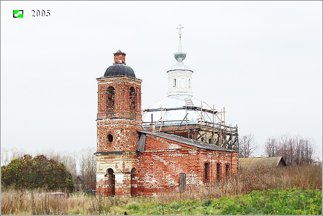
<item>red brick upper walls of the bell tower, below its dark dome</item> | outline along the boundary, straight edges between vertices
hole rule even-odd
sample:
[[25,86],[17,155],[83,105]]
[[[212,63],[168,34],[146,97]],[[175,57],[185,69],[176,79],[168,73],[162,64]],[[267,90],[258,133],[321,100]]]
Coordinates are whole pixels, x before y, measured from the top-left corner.
[[[141,123],[141,80],[118,76],[98,78],[97,151],[135,151]],[[107,90],[115,89],[114,109],[107,107]],[[136,90],[136,109],[130,108],[130,88]],[[110,142],[108,135],[112,135]]]

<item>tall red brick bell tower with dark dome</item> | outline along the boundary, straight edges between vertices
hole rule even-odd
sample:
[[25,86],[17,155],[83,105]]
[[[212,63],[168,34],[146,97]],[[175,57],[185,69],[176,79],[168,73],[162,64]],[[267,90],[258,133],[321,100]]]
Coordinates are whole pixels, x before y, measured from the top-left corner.
[[126,53],[114,53],[114,63],[96,79],[97,193],[131,196],[135,188],[141,120],[141,81],[126,65]]

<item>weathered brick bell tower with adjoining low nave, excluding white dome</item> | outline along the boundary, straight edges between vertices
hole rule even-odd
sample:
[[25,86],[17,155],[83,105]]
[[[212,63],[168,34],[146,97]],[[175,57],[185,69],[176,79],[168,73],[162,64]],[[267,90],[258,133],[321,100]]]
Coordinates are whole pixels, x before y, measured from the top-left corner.
[[97,193],[126,197],[174,193],[216,184],[236,173],[237,151],[143,131],[142,80],[125,66],[125,56],[116,52],[114,65],[97,78]]

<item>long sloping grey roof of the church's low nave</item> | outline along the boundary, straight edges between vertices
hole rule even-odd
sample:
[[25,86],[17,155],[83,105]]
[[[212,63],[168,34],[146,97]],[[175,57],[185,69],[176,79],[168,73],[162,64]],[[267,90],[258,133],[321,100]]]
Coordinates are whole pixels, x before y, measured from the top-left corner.
[[143,134],[149,134],[149,135],[165,138],[165,139],[169,139],[172,141],[180,142],[180,143],[183,143],[186,145],[191,145],[191,146],[195,146],[195,147],[203,148],[203,149],[207,149],[207,150],[237,152],[237,151],[229,149],[229,148],[224,148],[224,147],[221,147],[218,145],[200,142],[200,141],[197,141],[194,139],[188,139],[188,138],[185,138],[182,136],[177,136],[174,134],[167,134],[164,132],[150,132],[150,131],[138,131],[138,132],[143,133]]

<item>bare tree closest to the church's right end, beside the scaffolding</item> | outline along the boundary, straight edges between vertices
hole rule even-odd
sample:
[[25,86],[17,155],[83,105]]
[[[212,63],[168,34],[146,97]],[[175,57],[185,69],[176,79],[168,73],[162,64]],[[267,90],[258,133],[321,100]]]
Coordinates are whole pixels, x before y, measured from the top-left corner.
[[240,157],[250,157],[253,156],[255,150],[259,146],[255,141],[254,134],[248,133],[242,136],[239,136],[239,156]]

